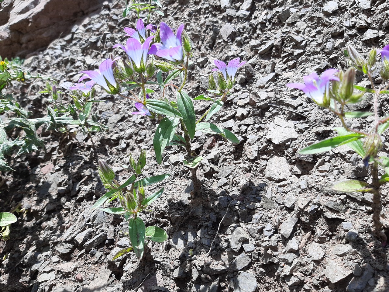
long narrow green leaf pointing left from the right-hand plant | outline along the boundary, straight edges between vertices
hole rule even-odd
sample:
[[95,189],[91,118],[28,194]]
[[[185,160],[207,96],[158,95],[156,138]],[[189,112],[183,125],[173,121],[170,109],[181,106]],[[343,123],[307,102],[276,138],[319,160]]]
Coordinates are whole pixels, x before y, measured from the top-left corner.
[[300,154],[316,154],[325,151],[329,151],[335,147],[346,144],[348,142],[356,141],[361,139],[364,135],[353,133],[344,136],[337,136],[333,138],[329,138],[315,144],[312,144],[308,147],[301,149],[298,153]]

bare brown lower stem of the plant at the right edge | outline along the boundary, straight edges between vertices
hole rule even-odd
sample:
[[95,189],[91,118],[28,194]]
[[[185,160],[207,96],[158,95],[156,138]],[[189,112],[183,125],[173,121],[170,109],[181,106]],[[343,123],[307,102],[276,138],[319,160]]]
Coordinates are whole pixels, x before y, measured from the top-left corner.
[[381,204],[381,189],[380,183],[378,181],[378,163],[374,161],[370,167],[371,179],[372,179],[372,190],[373,193],[373,204],[371,208],[373,209],[373,234],[381,241],[382,246],[386,245],[387,237],[383,231],[384,225],[380,221],[382,204]]

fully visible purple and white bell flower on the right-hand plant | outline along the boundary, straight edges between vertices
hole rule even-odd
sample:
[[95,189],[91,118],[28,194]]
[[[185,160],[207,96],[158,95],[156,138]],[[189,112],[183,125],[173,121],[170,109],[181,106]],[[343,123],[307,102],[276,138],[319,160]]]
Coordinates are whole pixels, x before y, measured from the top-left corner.
[[340,81],[336,76],[336,69],[327,69],[319,77],[315,72],[308,76],[304,76],[304,83],[289,83],[286,86],[302,90],[310,99],[319,106],[326,106],[329,100],[326,100],[326,95],[329,92],[329,81]]

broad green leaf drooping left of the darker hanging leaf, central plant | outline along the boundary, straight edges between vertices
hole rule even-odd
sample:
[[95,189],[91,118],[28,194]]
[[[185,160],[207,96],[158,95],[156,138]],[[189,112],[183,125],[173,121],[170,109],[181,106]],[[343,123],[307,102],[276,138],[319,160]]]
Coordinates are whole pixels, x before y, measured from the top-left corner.
[[162,162],[163,150],[165,150],[166,145],[172,141],[179,121],[179,118],[164,118],[155,131],[152,144],[158,164],[161,164]]

